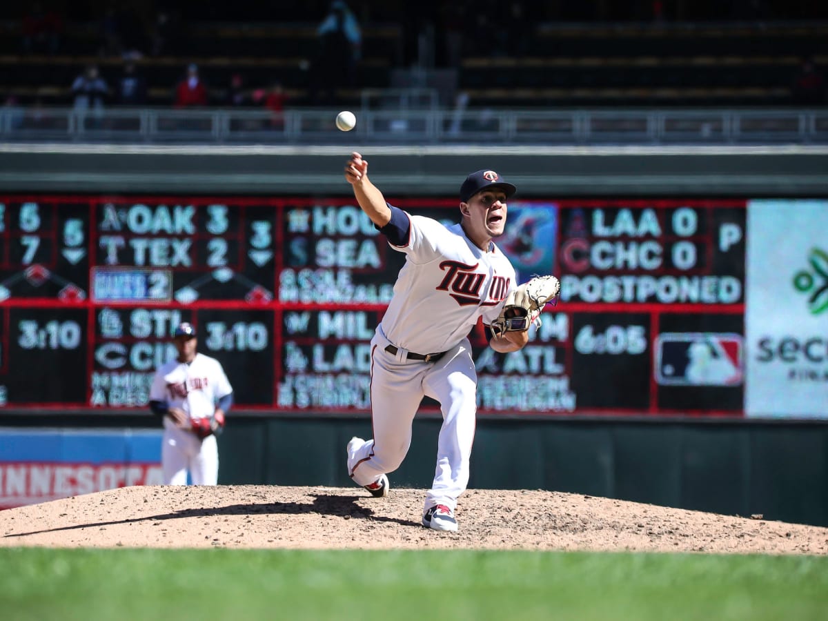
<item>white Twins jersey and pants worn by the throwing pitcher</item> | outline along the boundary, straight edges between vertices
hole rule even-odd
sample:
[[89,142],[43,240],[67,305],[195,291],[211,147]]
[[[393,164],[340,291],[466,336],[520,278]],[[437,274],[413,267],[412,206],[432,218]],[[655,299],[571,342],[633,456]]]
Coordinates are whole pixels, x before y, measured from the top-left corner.
[[[515,271],[500,249],[481,250],[460,224],[408,215],[406,253],[388,311],[371,340],[371,440],[352,441],[348,474],[359,485],[373,484],[397,469],[412,440],[412,421],[424,396],[440,402],[443,425],[437,440],[437,467],[423,513],[442,504],[454,510],[469,482],[474,441],[477,373],[469,332],[480,317],[491,325]],[[397,354],[388,352],[388,345]],[[436,362],[408,353],[440,354]],[[404,355],[403,355],[404,354]]]

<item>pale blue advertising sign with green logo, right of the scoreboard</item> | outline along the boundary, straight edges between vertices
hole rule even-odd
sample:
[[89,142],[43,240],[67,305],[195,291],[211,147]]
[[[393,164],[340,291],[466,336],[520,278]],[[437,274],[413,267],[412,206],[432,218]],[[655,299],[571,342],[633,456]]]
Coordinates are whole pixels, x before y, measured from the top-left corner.
[[828,418],[828,200],[752,200],[747,416]]

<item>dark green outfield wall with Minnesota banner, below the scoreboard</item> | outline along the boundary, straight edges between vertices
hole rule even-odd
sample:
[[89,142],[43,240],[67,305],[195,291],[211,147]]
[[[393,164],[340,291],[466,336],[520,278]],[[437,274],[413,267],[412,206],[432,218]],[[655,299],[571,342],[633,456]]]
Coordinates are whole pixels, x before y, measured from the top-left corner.
[[[46,502],[125,484],[157,484],[161,431],[87,427],[72,417],[0,416],[0,506]],[[67,422],[64,420],[64,422]],[[100,425],[100,421],[98,425]],[[392,486],[426,489],[439,419],[416,419]],[[351,436],[363,417],[231,416],[219,437],[219,484],[350,487]],[[818,422],[556,419],[479,421],[469,487],[551,489],[668,507],[828,526],[828,426]],[[355,490],[357,493],[357,490]]]

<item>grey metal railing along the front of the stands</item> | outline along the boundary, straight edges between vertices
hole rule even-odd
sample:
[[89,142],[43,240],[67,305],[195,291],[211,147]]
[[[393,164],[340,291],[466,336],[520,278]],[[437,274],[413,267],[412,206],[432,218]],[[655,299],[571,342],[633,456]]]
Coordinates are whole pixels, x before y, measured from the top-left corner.
[[0,108],[2,142],[226,144],[809,144],[828,142],[828,109],[363,109],[339,132],[338,110]]

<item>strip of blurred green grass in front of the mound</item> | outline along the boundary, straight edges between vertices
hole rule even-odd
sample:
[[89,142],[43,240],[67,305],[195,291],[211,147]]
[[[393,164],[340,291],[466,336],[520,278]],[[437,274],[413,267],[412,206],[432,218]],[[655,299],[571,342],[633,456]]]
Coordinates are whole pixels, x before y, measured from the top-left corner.
[[0,548],[0,617],[826,619],[828,558]]

